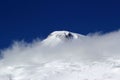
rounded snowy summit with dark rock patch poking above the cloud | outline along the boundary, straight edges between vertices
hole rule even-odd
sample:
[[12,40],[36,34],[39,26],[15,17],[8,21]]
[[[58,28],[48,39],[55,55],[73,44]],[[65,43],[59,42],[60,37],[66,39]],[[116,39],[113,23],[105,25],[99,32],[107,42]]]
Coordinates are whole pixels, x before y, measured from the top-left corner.
[[84,36],[70,31],[54,31],[43,40],[43,44],[55,46],[59,43],[79,39],[81,37]]

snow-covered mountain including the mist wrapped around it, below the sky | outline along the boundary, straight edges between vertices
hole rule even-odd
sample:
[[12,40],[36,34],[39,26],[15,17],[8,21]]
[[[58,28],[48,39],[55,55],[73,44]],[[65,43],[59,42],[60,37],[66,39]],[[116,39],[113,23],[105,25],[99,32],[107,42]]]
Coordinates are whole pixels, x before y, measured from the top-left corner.
[[0,80],[120,80],[119,35],[57,31],[43,41],[15,42],[1,51]]

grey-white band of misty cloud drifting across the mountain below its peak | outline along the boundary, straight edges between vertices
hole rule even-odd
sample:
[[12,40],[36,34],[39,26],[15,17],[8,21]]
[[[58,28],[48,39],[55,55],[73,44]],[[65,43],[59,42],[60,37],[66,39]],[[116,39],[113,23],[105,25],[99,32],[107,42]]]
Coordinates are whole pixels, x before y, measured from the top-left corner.
[[88,34],[85,38],[55,47],[43,46],[41,40],[28,44],[15,42],[1,51],[1,66],[39,64],[55,60],[102,61],[120,58],[120,30],[106,34]]

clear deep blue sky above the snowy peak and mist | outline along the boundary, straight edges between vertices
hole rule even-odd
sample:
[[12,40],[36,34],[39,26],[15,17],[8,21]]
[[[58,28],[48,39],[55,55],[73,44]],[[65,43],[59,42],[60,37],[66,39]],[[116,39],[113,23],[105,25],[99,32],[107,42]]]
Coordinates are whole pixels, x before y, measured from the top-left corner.
[[13,40],[45,38],[55,30],[81,34],[120,28],[120,2],[0,0],[0,48]]

